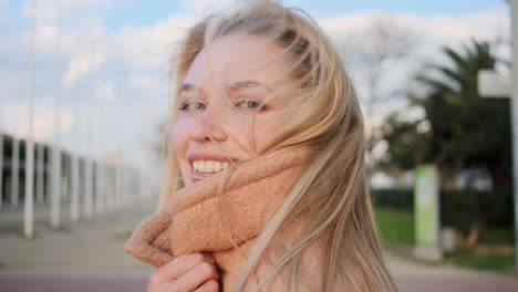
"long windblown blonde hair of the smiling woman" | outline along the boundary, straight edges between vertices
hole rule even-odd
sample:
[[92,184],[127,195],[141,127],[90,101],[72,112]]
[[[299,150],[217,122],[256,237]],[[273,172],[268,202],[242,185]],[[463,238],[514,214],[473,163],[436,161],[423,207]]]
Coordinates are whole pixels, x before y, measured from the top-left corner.
[[[271,272],[261,284],[281,275],[287,290],[300,291],[303,251],[321,242],[319,291],[397,291],[385,267],[364,168],[364,124],[351,81],[330,40],[302,11],[274,1],[248,1],[230,14],[215,14],[193,27],[173,66],[177,87],[205,45],[230,33],[272,38],[291,59],[290,76],[299,83],[291,118],[259,153],[309,144],[315,154],[283,204],[271,217],[248,254],[235,291],[249,288],[251,275],[267,252],[276,250]],[[284,54],[283,52],[283,54]],[[173,107],[172,111],[176,111]],[[170,115],[170,125],[176,114]],[[170,143],[169,143],[170,145]],[[175,153],[169,149],[160,194],[165,206],[184,187]],[[290,222],[308,222],[296,243],[282,244]]]

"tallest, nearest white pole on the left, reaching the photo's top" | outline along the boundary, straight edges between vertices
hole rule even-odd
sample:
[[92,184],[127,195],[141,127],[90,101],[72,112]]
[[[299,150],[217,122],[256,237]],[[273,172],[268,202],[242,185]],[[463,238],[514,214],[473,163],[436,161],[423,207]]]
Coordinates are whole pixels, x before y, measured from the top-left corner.
[[61,150],[60,150],[60,107],[61,107],[61,0],[58,2],[58,94],[55,96],[54,107],[54,133],[55,140],[52,147],[52,194],[51,194],[51,226],[54,229],[60,228],[60,202],[61,202]]

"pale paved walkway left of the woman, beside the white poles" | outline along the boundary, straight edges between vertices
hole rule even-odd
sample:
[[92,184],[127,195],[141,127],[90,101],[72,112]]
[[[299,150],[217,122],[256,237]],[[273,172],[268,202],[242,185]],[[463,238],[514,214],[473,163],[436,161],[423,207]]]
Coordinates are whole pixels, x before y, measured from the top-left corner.
[[49,210],[34,213],[33,239],[22,237],[23,213],[0,212],[0,273],[2,274],[144,274],[146,264],[130,257],[123,244],[131,231],[154,210],[154,204],[142,201],[124,210],[80,220],[75,226],[50,227]]

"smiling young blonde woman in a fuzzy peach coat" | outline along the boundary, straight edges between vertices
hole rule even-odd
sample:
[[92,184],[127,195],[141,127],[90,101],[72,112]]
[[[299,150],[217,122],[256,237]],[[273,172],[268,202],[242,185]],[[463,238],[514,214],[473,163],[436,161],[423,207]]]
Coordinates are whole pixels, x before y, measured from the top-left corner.
[[148,291],[396,291],[364,175],[364,126],[325,33],[268,0],[193,27],[163,208],[126,243]]

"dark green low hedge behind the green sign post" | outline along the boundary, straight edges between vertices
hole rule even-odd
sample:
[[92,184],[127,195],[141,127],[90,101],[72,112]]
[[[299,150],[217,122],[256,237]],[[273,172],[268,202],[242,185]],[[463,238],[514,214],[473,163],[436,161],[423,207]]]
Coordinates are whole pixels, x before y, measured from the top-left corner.
[[[413,189],[373,189],[373,204],[397,210],[414,210]],[[479,191],[441,190],[442,226],[467,231],[473,222],[491,227],[512,226],[512,192],[510,190]]]

